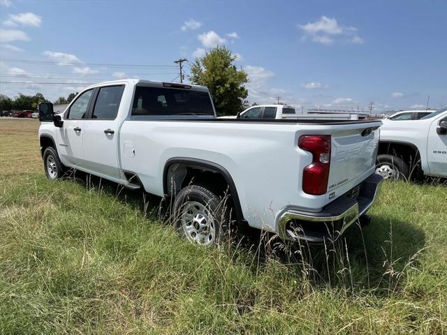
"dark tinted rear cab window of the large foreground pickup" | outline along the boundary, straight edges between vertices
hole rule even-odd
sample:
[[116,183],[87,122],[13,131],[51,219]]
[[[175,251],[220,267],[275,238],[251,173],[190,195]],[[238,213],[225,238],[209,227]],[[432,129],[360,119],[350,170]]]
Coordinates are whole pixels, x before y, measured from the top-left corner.
[[207,91],[137,86],[132,116],[209,115],[214,117]]

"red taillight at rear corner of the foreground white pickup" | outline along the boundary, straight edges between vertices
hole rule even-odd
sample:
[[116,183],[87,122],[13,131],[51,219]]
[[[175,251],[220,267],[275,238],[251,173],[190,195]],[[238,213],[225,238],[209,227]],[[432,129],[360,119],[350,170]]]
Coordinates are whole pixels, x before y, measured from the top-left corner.
[[328,190],[330,168],[330,135],[302,135],[298,147],[312,153],[312,164],[302,173],[302,191],[322,195]]

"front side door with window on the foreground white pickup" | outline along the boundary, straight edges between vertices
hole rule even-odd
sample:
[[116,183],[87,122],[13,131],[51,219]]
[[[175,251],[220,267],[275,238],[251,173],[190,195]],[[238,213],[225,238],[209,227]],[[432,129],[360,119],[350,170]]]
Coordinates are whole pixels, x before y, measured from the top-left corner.
[[82,93],[66,112],[64,126],[59,128],[59,156],[62,163],[73,167],[85,168],[85,164],[83,164],[82,128],[85,126],[92,95],[92,89]]

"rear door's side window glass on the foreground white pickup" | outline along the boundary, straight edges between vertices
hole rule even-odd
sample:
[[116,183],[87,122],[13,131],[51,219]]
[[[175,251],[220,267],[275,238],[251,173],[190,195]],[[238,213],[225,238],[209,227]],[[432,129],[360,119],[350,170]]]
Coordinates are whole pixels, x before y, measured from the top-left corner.
[[96,98],[92,119],[113,120],[117,117],[124,85],[101,87]]

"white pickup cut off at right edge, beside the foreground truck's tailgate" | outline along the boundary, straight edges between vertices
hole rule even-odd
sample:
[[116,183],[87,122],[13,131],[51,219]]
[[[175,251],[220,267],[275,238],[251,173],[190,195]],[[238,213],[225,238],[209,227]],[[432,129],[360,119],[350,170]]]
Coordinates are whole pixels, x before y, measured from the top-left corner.
[[447,108],[416,120],[382,120],[376,173],[385,179],[447,177]]

